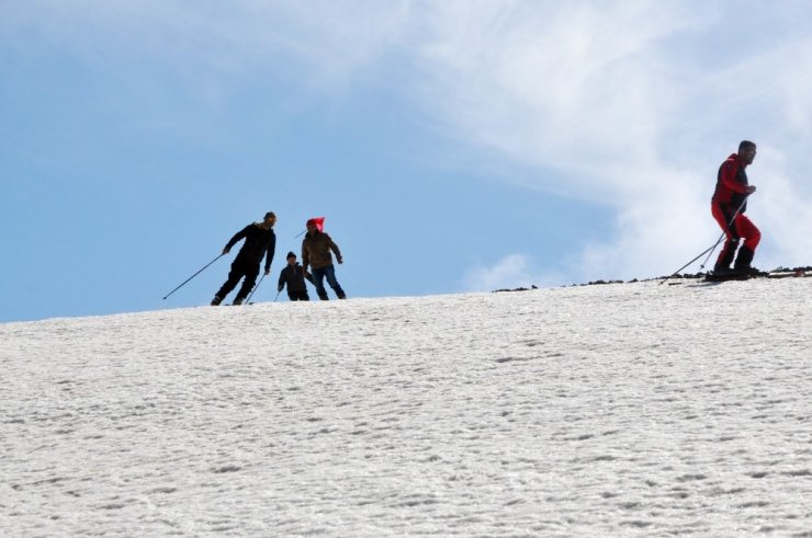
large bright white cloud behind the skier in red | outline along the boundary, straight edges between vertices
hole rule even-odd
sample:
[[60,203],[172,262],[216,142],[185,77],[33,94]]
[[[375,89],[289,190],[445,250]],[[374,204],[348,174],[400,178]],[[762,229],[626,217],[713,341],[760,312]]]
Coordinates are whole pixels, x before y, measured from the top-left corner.
[[[742,138],[787,163],[749,169],[762,184],[751,204],[765,233],[756,261],[810,262],[812,221],[799,216],[812,202],[800,184],[812,164],[812,77],[798,66],[812,41],[792,31],[812,23],[805,11],[443,2],[430,21],[425,94],[448,135],[556,170],[534,186],[617,210],[613,239],[572,260],[585,278],[664,274],[712,244],[717,169]],[[783,39],[766,33],[774,22]]]

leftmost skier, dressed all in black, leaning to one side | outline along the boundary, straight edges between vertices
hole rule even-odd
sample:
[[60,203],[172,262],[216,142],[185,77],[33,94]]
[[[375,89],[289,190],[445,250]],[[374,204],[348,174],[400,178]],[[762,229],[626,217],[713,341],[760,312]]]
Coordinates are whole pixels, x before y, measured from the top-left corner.
[[234,234],[234,237],[226,243],[223,249],[223,254],[228,254],[232,247],[237,244],[238,241],[245,239],[243,248],[239,249],[237,257],[232,263],[232,271],[228,272],[228,279],[223,284],[223,287],[214,295],[212,299],[212,306],[216,307],[223,299],[235,288],[239,281],[243,281],[243,286],[237,293],[237,297],[234,298],[233,305],[241,305],[248,294],[251,293],[253,285],[257,282],[259,275],[259,265],[262,262],[262,256],[266,259],[266,275],[271,273],[271,262],[273,261],[273,252],[277,249],[277,234],[273,233],[273,225],[277,224],[277,216],[273,211],[266,214],[262,222],[253,222],[240,231]]

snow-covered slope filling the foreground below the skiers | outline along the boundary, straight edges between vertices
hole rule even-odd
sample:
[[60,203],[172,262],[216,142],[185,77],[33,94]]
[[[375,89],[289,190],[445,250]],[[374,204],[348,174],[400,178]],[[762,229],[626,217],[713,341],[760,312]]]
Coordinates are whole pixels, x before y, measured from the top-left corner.
[[812,278],[0,325],[4,536],[812,536]]

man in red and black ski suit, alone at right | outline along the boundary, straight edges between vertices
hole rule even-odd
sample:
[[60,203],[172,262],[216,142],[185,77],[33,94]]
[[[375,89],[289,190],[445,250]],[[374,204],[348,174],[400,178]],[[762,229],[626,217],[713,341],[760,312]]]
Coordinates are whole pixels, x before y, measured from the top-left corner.
[[[752,164],[755,158],[756,145],[749,140],[743,140],[738,145],[738,152],[731,154],[719,167],[717,188],[711,198],[711,214],[724,230],[725,241],[713,266],[714,274],[730,273],[730,264],[734,257],[734,272],[742,274],[757,272],[751,264],[756,247],[762,240],[762,232],[744,215],[747,210],[747,196],[756,192],[755,185],[748,183],[744,169]],[[738,248],[742,239],[744,242]],[[738,249],[737,254],[736,249]]]

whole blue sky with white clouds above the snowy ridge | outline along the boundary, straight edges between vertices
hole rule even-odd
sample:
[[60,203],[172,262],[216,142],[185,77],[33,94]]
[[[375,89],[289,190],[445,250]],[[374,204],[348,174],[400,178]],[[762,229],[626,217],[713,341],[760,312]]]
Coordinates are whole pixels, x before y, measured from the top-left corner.
[[205,305],[268,210],[258,300],[314,216],[350,297],[669,274],[744,138],[809,265],[811,62],[802,1],[0,2],[0,321]]

